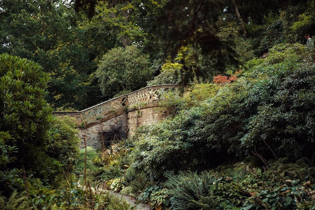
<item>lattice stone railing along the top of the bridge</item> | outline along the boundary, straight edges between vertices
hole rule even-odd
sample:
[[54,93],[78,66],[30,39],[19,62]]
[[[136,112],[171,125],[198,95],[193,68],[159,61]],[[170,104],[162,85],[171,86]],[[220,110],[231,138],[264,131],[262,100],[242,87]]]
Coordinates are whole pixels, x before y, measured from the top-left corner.
[[99,119],[110,118],[121,114],[132,105],[142,102],[147,104],[156,100],[163,100],[170,96],[183,97],[189,93],[189,86],[179,84],[148,86],[130,94],[105,101],[82,111],[53,112],[55,116],[67,115],[76,119],[80,125],[88,125]]

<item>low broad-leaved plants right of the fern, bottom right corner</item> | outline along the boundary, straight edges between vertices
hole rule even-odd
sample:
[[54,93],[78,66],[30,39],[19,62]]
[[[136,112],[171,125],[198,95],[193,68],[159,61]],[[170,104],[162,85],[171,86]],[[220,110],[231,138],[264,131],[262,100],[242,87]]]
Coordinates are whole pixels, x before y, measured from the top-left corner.
[[[287,176],[283,176],[280,171],[282,168],[287,168],[291,174],[286,171],[283,174]],[[313,186],[307,181],[308,176],[303,180],[295,180],[294,177],[297,176],[294,173],[307,171],[307,168],[307,165],[302,168],[297,163],[293,166],[284,159],[275,161],[264,171],[253,167],[253,162],[237,163],[225,170],[217,170],[222,178],[226,178],[217,180],[213,195],[219,201],[227,199],[232,206],[243,210],[303,209],[298,206],[306,206],[312,202],[309,192]]]

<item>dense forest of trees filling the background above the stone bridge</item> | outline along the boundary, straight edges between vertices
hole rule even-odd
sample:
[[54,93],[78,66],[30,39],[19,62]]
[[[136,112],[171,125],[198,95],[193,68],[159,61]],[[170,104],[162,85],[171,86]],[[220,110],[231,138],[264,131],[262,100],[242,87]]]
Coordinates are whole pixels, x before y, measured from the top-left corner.
[[315,34],[310,1],[3,0],[0,8],[0,52],[43,66],[55,110],[84,109],[139,88],[101,91],[108,84],[95,72],[116,47],[149,55],[152,77],[140,84],[164,63],[182,64],[178,82],[211,82],[274,44]]

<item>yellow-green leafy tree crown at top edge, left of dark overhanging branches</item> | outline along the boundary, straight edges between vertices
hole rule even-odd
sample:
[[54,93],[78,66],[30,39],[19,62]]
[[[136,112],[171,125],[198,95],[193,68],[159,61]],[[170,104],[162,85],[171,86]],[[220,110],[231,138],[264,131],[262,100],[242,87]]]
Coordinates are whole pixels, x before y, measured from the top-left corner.
[[157,5],[151,1],[138,0],[92,2],[75,0],[74,8],[77,12],[87,12],[92,23],[98,26],[96,33],[104,34],[105,39],[116,42],[115,47],[126,47],[142,41],[145,35],[142,27],[146,22],[145,18],[153,8],[151,5]]

